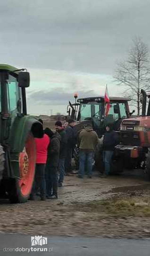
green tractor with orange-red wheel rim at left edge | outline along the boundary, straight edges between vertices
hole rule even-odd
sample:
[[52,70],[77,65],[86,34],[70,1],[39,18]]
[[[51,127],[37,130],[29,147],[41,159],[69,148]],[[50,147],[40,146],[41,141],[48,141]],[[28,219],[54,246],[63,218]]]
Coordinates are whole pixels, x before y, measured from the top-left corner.
[[34,137],[43,137],[42,124],[27,115],[26,69],[0,64],[0,198],[26,202],[34,181]]

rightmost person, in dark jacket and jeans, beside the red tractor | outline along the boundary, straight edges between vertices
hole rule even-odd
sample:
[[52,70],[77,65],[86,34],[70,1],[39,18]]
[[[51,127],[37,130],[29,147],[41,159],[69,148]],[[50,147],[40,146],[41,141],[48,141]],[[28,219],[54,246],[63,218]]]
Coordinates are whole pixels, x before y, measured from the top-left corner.
[[106,178],[110,172],[113,151],[117,143],[118,143],[117,133],[113,131],[112,125],[107,125],[106,133],[104,134],[104,138],[103,138],[103,146],[102,146],[102,149],[103,149],[102,154],[103,154],[105,171],[101,176],[101,178]]

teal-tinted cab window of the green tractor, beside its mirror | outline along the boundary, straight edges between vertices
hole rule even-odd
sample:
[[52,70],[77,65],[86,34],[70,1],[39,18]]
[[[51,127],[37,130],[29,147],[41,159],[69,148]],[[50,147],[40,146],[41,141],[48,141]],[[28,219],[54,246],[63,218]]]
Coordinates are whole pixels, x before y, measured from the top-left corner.
[[11,113],[18,112],[18,102],[19,97],[19,87],[17,78],[9,74],[9,79],[7,80],[7,100],[8,100],[8,111]]

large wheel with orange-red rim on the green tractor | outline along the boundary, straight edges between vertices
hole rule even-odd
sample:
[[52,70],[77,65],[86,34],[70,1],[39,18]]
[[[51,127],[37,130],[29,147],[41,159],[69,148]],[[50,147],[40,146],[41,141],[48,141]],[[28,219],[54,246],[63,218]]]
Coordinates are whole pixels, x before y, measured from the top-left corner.
[[23,152],[20,152],[16,164],[20,177],[11,179],[7,192],[11,203],[24,203],[30,196],[36,165],[36,145],[31,133],[27,137]]

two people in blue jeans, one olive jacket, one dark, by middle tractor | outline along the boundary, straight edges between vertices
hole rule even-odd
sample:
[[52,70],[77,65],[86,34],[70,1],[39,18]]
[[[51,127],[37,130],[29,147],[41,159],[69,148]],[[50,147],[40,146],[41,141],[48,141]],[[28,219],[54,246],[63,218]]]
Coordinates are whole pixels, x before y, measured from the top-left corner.
[[[110,172],[112,156],[115,146],[118,144],[118,137],[113,131],[111,124],[106,125],[106,132],[101,138],[102,140],[102,159],[104,163],[104,172],[101,178],[107,178]],[[87,176],[92,178],[92,162],[94,159],[95,148],[98,144],[97,133],[88,125],[79,133],[79,178],[83,178],[85,167]],[[99,156],[100,157],[100,156]]]

